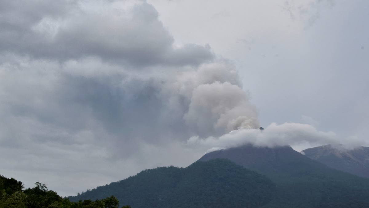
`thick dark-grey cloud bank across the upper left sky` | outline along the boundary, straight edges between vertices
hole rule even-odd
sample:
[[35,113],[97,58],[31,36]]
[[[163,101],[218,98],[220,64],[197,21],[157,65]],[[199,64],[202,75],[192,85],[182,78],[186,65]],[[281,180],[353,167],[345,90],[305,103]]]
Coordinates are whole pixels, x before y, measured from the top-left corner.
[[28,2],[32,6],[25,11],[18,9],[21,3],[6,3],[0,22],[1,50],[61,61],[97,56],[141,67],[198,65],[213,59],[209,47],[174,49],[172,36],[150,4],[141,2],[125,9],[114,2],[100,2],[94,6],[103,10],[96,11],[83,3]]

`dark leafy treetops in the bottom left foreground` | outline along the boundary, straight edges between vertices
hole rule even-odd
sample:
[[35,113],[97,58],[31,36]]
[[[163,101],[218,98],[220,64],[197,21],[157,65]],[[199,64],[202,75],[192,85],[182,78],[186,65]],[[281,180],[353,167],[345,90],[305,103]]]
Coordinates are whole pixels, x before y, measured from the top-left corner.
[[[22,190],[22,182],[0,175],[1,208],[118,208],[119,201],[114,196],[101,200],[80,200],[70,202],[55,191],[48,190],[45,184],[35,183],[34,188]],[[130,206],[124,206],[129,208]]]

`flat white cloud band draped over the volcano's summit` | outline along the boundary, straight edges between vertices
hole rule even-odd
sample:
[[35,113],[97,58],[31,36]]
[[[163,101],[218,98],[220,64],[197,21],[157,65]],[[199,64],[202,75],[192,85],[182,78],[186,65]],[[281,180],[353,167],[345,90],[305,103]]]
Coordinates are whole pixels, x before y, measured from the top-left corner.
[[200,138],[194,136],[187,140],[187,145],[208,148],[207,152],[244,144],[271,148],[290,145],[298,151],[307,147],[325,144],[343,144],[348,149],[366,145],[365,142],[358,138],[340,138],[339,135],[332,131],[318,131],[312,125],[300,123],[284,123],[280,125],[272,123],[263,131],[259,129],[240,129],[220,137]]

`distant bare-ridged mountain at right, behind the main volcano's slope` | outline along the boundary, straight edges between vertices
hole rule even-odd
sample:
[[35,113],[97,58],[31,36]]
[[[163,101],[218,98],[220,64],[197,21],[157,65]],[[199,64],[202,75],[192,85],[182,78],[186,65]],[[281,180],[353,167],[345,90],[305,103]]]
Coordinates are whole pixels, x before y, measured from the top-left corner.
[[369,147],[345,150],[342,145],[323,145],[300,152],[331,168],[369,178]]

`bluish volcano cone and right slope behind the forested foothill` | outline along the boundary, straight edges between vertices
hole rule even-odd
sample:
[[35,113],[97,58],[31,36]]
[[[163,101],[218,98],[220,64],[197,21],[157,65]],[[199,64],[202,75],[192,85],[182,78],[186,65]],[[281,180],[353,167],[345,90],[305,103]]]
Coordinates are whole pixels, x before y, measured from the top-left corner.
[[334,170],[284,147],[244,145],[210,152],[199,159],[227,158],[265,174],[277,185],[265,207],[369,207],[369,180]]

